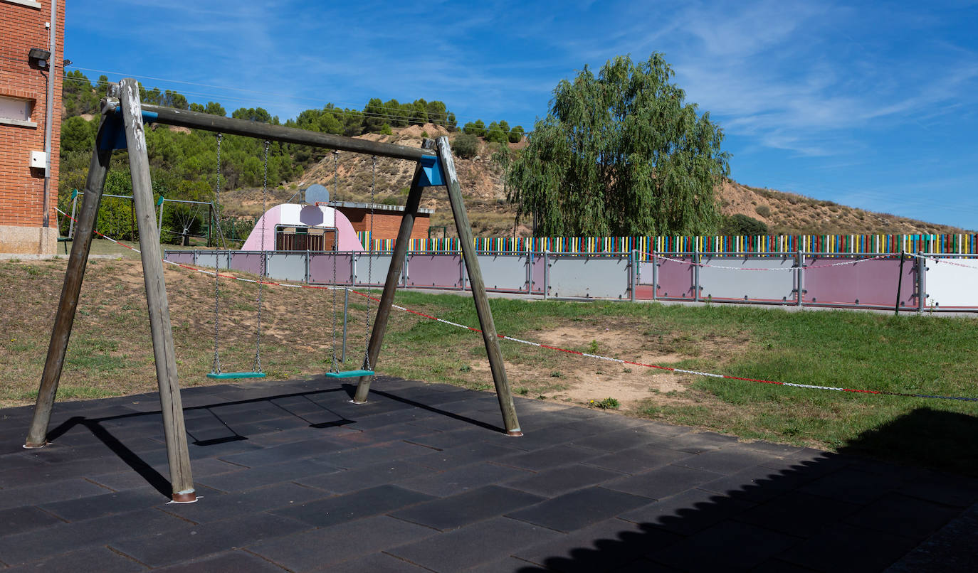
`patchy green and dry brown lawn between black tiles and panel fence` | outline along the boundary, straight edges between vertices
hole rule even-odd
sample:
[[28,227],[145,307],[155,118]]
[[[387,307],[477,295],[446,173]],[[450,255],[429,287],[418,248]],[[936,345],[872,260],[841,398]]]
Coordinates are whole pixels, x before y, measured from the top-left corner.
[[[0,262],[0,405],[31,403],[43,368],[66,262]],[[213,279],[167,266],[181,384],[213,358]],[[156,389],[141,268],[93,260],[68,348],[60,399]],[[257,287],[221,281],[222,364],[248,369]],[[332,360],[328,291],[266,287],[262,364],[270,378],[310,376]],[[336,297],[342,305],[342,296]],[[349,359],[359,367],[366,305],[351,295]],[[402,292],[398,304],[477,326],[471,299]],[[690,370],[808,384],[978,397],[978,321],[946,316],[786,312],[778,308],[492,300],[500,333],[548,345]],[[372,310],[374,309],[372,304]],[[503,341],[513,391],[743,438],[860,451],[978,474],[978,403],[795,389],[674,374]],[[338,354],[338,350],[337,350]],[[394,310],[378,372],[491,389],[481,337]],[[593,406],[593,407],[594,407]],[[517,403],[518,409],[518,403]],[[912,424],[907,421],[914,421]],[[525,430],[532,431],[531,428]]]

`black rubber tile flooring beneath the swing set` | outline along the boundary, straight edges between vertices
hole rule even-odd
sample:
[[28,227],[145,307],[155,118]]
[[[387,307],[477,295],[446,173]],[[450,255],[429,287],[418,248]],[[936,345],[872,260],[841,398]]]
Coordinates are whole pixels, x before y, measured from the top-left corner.
[[166,503],[153,394],[59,403],[42,450],[21,448],[32,408],[0,410],[0,570],[937,571],[911,551],[978,500],[974,479],[553,402],[517,399],[511,438],[493,394],[374,388],[185,390],[192,505]]

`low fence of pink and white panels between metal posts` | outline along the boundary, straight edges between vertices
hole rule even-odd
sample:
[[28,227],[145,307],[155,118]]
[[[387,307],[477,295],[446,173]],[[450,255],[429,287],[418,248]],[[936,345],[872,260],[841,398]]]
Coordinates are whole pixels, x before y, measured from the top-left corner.
[[[313,251],[165,251],[194,266],[308,284],[382,286],[393,254]],[[978,311],[978,255],[649,252],[477,253],[486,290],[544,299],[691,301]],[[409,251],[402,288],[467,290],[461,253]]]

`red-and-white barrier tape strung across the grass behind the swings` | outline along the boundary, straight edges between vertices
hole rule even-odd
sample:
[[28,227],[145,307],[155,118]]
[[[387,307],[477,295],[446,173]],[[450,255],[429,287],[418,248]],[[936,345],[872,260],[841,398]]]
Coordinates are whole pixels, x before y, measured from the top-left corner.
[[[67,214],[64,211],[62,211],[61,209],[58,209],[58,212],[61,213],[62,215],[65,215],[66,217],[68,217]],[[127,249],[129,249],[131,251],[135,251],[137,253],[140,252],[139,249],[136,249],[134,247],[130,247],[129,245],[126,245],[124,243],[120,243],[120,242],[116,241],[115,239],[113,239],[113,238],[111,238],[109,236],[106,236],[106,235],[102,234],[99,231],[95,231],[95,233],[98,234],[99,236],[102,236],[102,237],[105,237],[105,238],[111,240],[111,242],[113,242],[113,243],[116,243],[118,245],[122,245],[123,247],[125,247],[125,248],[127,248]],[[877,259],[878,258],[879,257],[877,257]],[[272,286],[283,286],[283,287],[304,288],[304,289],[319,289],[319,290],[330,290],[330,289],[338,289],[338,288],[340,288],[340,287],[337,287],[337,286],[320,286],[320,285],[308,285],[308,284],[291,284],[291,283],[286,283],[286,282],[272,282],[272,281],[264,281],[264,280],[263,281],[259,281],[259,280],[255,280],[255,279],[251,279],[251,278],[244,278],[244,277],[240,277],[240,276],[234,276],[232,274],[219,273],[219,272],[217,272],[217,269],[216,268],[211,271],[211,270],[204,270],[202,268],[197,268],[197,267],[194,267],[194,266],[182,265],[180,263],[173,263],[172,261],[166,261],[165,259],[163,260],[163,262],[164,263],[169,263],[170,265],[173,265],[173,266],[179,266],[181,268],[186,268],[188,270],[195,270],[197,272],[202,272],[203,274],[208,274],[208,275],[211,275],[211,276],[213,276],[214,274],[217,274],[217,276],[220,276],[220,277],[233,278],[235,280],[240,280],[240,281],[243,281],[243,282],[250,282],[250,283],[258,283],[258,282],[261,282],[262,284],[267,284],[267,285],[272,285]],[[366,299],[370,299],[372,301],[376,301],[376,302],[379,303],[379,299],[378,298],[376,298],[376,297],[374,297],[372,295],[369,295],[367,293],[362,293],[360,291],[355,291],[355,290],[352,290],[352,289],[350,289],[350,292],[353,293],[353,294],[355,294],[355,295],[359,295],[361,297],[364,297]],[[480,329],[478,329],[478,328],[467,326],[465,324],[459,324],[458,322],[452,322],[451,320],[445,320],[444,318],[438,318],[437,316],[432,316],[430,314],[425,314],[424,312],[420,312],[418,310],[414,310],[414,309],[411,309],[411,308],[408,308],[408,307],[401,307],[400,305],[391,305],[391,306],[394,307],[394,308],[397,308],[398,310],[401,310],[401,311],[404,311],[404,312],[409,312],[409,313],[415,314],[417,316],[421,316],[422,318],[427,318],[429,320],[434,320],[435,322],[440,322],[442,324],[447,324],[449,326],[453,326],[453,327],[456,327],[456,328],[462,328],[462,329],[465,329],[467,331],[474,332],[474,333],[479,333],[479,334],[482,333],[482,331]],[[665,371],[668,371],[668,372],[675,372],[675,373],[678,373],[678,374],[689,374],[689,375],[692,375],[692,376],[702,376],[702,377],[706,377],[706,378],[720,378],[720,379],[724,379],[724,380],[739,380],[741,382],[756,382],[756,383],[760,383],[760,384],[770,384],[770,385],[784,386],[784,387],[790,387],[790,388],[822,389],[822,390],[831,390],[831,391],[840,391],[840,392],[853,392],[853,393],[861,393],[861,394],[878,394],[878,395],[884,395],[884,396],[901,396],[901,397],[911,397],[911,398],[932,398],[932,399],[938,399],[938,400],[958,400],[958,401],[963,401],[963,402],[978,402],[978,398],[973,398],[973,397],[968,397],[968,396],[942,396],[942,395],[932,395],[932,394],[914,394],[914,393],[907,393],[907,392],[891,392],[891,391],[873,390],[873,389],[836,388],[836,387],[831,387],[831,386],[815,386],[815,385],[811,385],[811,384],[795,384],[795,383],[789,383],[789,382],[777,382],[777,381],[774,381],[774,380],[763,380],[763,379],[756,379],[756,378],[743,378],[743,377],[740,377],[740,376],[731,376],[731,375],[728,375],[728,374],[715,374],[715,373],[712,373],[712,372],[698,372],[696,370],[685,370],[683,368],[673,368],[671,366],[662,366],[662,365],[659,365],[659,364],[645,364],[643,362],[635,362],[633,360],[624,360],[622,358],[612,358],[610,356],[602,356],[600,354],[592,354],[592,353],[589,353],[589,352],[581,352],[579,350],[571,350],[569,348],[552,347],[550,345],[545,345],[545,344],[542,344],[542,343],[534,343],[534,342],[531,342],[531,341],[517,339],[517,338],[511,337],[511,336],[504,335],[504,334],[497,334],[496,336],[499,337],[500,339],[505,340],[505,341],[510,341],[512,343],[516,343],[516,344],[520,344],[520,345],[526,345],[526,346],[537,347],[537,348],[547,348],[547,349],[550,349],[550,350],[555,350],[555,351],[558,351],[558,352],[564,352],[564,353],[567,353],[567,354],[576,354],[578,356],[584,356],[584,357],[587,357],[587,358],[595,358],[597,360],[604,360],[606,362],[616,362],[618,364],[629,364],[631,366],[642,366],[644,368],[654,368],[656,370],[665,370]]]

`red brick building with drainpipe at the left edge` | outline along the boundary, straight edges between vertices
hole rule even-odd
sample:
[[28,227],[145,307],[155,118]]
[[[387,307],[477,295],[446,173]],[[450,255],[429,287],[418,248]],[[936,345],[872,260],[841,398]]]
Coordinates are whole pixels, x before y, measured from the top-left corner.
[[52,19],[52,0],[0,0],[0,253],[51,255],[58,244],[65,0],[56,2]]

